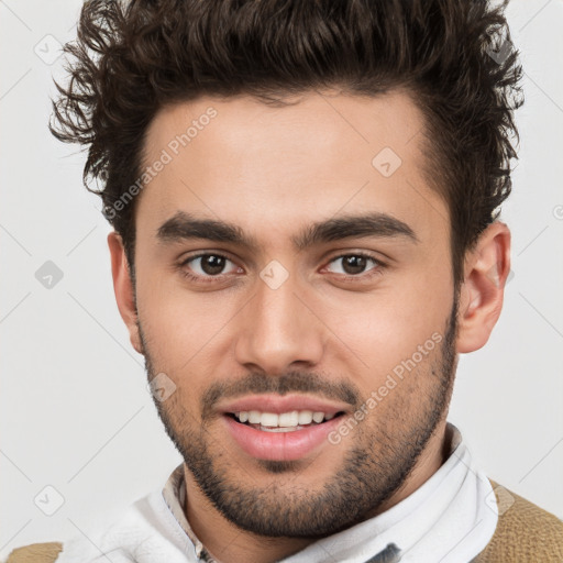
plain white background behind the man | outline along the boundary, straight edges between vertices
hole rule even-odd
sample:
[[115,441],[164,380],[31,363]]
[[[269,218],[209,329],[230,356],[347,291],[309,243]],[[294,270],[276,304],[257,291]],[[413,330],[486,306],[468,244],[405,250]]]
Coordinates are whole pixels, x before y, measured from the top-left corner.
[[[46,128],[62,59],[34,49],[46,35],[74,38],[79,9],[0,0],[2,556],[111,518],[180,463],[114,303],[110,228],[81,185],[85,155]],[[461,358],[450,420],[492,478],[561,518],[563,3],[515,0],[508,15],[526,71],[503,212],[515,276],[489,343]],[[52,289],[35,278],[46,261],[64,274]],[[65,499],[53,516],[34,504],[47,485]]]

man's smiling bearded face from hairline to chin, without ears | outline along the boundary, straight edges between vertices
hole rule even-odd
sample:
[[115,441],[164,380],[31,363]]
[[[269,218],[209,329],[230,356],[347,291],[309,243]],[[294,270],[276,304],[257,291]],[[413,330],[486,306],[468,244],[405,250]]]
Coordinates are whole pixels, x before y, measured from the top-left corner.
[[349,526],[443,430],[455,303],[422,126],[401,93],[311,92],[201,98],[147,132],[165,164],[135,209],[142,350],[176,386],[155,402],[188,483],[244,529]]

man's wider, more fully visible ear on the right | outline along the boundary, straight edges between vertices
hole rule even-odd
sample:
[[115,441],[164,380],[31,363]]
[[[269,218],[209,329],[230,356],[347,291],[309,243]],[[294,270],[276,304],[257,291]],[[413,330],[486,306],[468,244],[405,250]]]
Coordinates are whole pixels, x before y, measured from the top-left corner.
[[510,231],[495,221],[481,234],[467,253],[457,313],[457,353],[484,346],[493,332],[510,273]]

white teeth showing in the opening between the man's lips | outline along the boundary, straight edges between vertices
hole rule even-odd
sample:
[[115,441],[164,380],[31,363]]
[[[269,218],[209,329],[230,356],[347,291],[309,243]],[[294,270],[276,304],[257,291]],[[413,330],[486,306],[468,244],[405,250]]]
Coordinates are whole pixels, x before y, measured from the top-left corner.
[[243,410],[227,413],[228,417],[234,419],[236,422],[263,432],[296,432],[298,430],[320,426],[342,415],[344,415],[343,411],[329,413],[321,411],[314,412],[312,410],[292,410],[279,415],[258,410]]

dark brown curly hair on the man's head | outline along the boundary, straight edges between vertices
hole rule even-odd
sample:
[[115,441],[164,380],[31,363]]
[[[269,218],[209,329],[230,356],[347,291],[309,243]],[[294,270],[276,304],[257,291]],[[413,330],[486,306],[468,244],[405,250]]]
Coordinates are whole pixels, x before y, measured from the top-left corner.
[[[88,0],[51,132],[89,145],[87,189],[134,274],[134,201],[147,126],[165,106],[240,93],[267,104],[319,88],[401,88],[424,115],[424,177],[444,198],[454,279],[511,189],[518,51],[487,0]],[[512,139],[514,137],[514,139]],[[96,180],[99,187],[89,187]]]

